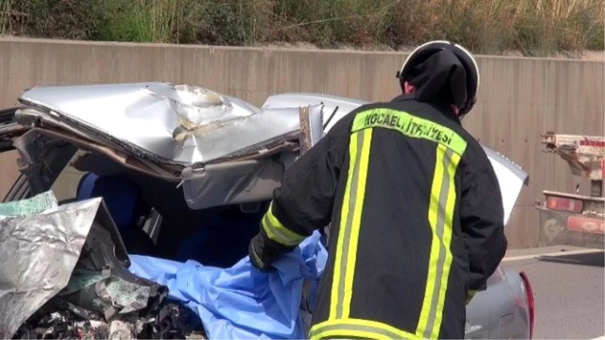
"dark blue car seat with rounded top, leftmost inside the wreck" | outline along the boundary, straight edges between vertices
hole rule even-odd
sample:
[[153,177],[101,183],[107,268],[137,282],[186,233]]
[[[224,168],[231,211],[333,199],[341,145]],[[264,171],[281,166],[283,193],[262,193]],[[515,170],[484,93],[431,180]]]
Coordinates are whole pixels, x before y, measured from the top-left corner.
[[149,235],[137,225],[151,209],[143,200],[136,183],[120,176],[85,174],[77,186],[76,199],[102,197],[113,218],[128,253],[153,255],[155,245]]

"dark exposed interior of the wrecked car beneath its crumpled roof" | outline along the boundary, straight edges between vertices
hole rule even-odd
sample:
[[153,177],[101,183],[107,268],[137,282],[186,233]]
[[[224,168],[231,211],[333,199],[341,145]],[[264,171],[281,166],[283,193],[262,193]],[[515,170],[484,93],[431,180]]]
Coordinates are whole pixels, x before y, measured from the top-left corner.
[[[28,142],[20,153],[20,162],[27,159],[31,164],[5,201],[60,189],[57,178],[70,169],[83,173],[77,184],[71,183],[75,192],[59,197],[59,204],[102,197],[133,255],[231,267],[247,256],[249,241],[269,207],[269,200],[261,200],[194,210],[177,181],[127,168],[106,154],[57,139]],[[146,229],[150,224],[157,227]]]

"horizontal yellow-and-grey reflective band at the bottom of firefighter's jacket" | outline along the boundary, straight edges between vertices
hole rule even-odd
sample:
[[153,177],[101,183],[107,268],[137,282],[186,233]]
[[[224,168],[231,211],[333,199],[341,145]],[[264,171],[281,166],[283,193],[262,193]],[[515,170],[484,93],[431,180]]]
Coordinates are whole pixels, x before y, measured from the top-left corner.
[[321,322],[311,327],[310,340],[332,336],[352,336],[380,340],[424,340],[421,336],[396,329],[382,322],[362,319],[338,319]]

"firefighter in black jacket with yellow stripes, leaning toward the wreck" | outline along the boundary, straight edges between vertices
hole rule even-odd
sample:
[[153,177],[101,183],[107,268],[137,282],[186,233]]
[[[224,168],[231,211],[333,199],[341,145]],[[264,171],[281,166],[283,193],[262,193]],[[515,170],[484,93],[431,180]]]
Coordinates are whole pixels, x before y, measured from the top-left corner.
[[462,128],[479,70],[432,41],[397,72],[402,95],[362,105],[302,155],[249,246],[261,270],[331,225],[310,339],[463,339],[469,298],[507,241],[494,169]]

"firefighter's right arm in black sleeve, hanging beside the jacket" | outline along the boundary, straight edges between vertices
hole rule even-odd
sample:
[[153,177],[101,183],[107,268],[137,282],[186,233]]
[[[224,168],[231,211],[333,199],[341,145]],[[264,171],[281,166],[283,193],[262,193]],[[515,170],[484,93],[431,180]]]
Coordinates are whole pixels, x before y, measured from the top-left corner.
[[486,163],[477,172],[466,168],[462,177],[460,222],[470,266],[469,297],[486,289],[508,245],[500,185]]

